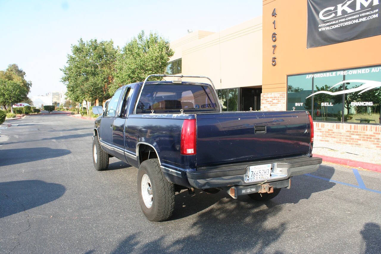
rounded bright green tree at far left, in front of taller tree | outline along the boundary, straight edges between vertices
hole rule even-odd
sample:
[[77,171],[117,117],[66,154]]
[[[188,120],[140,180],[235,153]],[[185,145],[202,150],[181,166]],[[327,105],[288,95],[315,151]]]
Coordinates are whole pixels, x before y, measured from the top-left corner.
[[13,113],[12,105],[22,101],[28,92],[27,87],[21,82],[0,78],[0,103],[11,105],[11,113]]

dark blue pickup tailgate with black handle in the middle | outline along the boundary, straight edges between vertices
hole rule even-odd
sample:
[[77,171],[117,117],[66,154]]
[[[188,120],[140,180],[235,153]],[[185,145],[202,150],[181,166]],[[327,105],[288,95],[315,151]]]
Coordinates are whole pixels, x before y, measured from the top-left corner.
[[306,155],[309,141],[306,111],[197,114],[197,167]]

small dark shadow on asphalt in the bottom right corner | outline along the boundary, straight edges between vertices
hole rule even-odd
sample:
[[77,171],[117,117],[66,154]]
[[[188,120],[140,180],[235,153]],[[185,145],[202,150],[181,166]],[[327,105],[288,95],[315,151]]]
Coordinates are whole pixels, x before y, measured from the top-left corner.
[[365,242],[365,254],[379,253],[381,251],[381,228],[380,225],[368,222],[360,231]]

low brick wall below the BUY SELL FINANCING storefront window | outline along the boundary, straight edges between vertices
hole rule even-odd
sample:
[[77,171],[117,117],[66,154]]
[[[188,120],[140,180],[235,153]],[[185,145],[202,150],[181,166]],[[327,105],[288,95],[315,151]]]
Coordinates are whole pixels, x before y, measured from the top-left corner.
[[314,122],[314,140],[381,149],[381,126]]

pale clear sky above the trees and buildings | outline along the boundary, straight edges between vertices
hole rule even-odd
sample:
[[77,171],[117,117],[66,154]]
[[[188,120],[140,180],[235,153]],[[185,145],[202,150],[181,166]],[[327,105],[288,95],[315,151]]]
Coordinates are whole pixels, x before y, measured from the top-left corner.
[[64,89],[59,68],[80,37],[122,47],[144,30],[171,41],[187,29],[218,32],[261,14],[260,0],[0,0],[0,70],[18,64],[32,81],[29,95],[42,95]]

